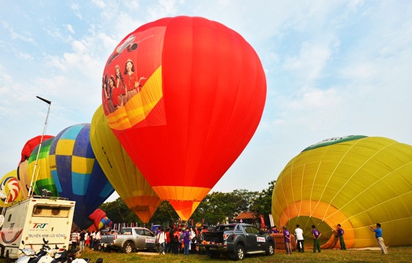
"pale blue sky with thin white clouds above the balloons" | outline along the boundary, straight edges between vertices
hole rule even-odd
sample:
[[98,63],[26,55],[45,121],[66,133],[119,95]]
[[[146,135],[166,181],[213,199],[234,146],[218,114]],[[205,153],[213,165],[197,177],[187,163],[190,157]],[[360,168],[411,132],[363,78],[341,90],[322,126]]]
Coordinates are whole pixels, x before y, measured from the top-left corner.
[[[5,8],[7,5],[7,8]],[[25,142],[90,123],[106,60],[137,27],[203,16],[241,34],[266,72],[253,139],[212,191],[260,191],[286,163],[330,137],[412,144],[411,1],[2,1],[0,175]],[[115,198],[113,196],[111,199]]]

